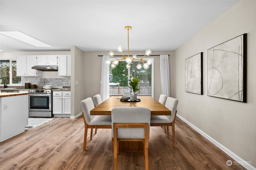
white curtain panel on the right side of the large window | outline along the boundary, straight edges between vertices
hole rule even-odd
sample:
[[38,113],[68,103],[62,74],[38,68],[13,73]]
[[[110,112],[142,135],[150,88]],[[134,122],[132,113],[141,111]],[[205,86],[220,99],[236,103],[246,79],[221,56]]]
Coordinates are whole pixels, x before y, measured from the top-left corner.
[[160,55],[160,78],[162,94],[170,97],[169,59],[168,55]]

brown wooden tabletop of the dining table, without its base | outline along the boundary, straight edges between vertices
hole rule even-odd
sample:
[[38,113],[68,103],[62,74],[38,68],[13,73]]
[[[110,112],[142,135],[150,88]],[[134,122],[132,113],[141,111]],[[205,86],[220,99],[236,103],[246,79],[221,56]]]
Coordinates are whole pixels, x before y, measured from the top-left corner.
[[140,102],[121,102],[121,96],[111,96],[90,111],[90,115],[111,115],[114,107],[146,107],[151,115],[171,115],[171,111],[151,96],[138,96]]

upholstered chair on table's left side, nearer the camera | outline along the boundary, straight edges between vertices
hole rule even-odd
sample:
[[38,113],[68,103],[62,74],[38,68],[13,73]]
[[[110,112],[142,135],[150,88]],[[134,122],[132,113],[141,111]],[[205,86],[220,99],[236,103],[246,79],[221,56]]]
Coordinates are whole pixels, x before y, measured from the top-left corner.
[[93,128],[111,129],[111,116],[108,115],[90,115],[90,111],[94,108],[92,98],[86,98],[81,102],[82,114],[84,118],[84,147],[86,149],[86,140],[88,128],[91,129],[90,141],[92,140]]

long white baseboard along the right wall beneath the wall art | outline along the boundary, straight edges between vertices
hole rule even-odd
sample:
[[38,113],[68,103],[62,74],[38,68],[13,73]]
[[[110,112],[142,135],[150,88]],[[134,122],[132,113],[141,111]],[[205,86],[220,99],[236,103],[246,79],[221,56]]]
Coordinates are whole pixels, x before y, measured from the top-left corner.
[[[195,131],[197,131],[198,133],[200,133],[203,137],[205,137],[206,139],[208,139],[208,141],[210,141],[211,143],[213,143],[216,147],[218,147],[220,150],[222,150],[223,152],[225,152],[226,154],[228,154],[231,158],[233,158],[236,162],[240,163],[242,166],[244,166],[244,168],[246,168],[247,170],[256,170],[255,167],[253,167],[251,164],[246,163],[245,160],[243,160],[242,158],[240,158],[239,156],[237,156],[236,154],[234,154],[234,152],[232,152],[231,150],[227,149],[226,147],[224,147],[222,144],[220,144],[219,142],[217,142],[215,139],[213,139],[212,137],[210,137],[209,135],[207,135],[206,133],[204,133],[203,131],[201,131],[200,129],[198,129],[196,126],[194,126],[192,123],[190,123],[189,121],[187,121],[186,119],[184,119],[182,116],[177,114],[177,117],[180,118],[182,121],[184,121],[186,124],[188,124],[190,127],[192,127]],[[244,162],[244,163],[243,163]]]

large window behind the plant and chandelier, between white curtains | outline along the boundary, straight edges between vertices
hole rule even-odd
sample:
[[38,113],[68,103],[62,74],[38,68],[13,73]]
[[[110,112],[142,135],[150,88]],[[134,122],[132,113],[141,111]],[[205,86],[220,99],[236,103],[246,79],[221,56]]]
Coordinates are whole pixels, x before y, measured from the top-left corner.
[[150,59],[152,64],[148,69],[144,69],[143,67],[140,69],[136,68],[137,64],[141,64],[141,61],[134,61],[131,64],[130,68],[126,68],[126,62],[120,61],[116,68],[112,68],[110,66],[110,75],[112,80],[110,81],[110,96],[114,95],[123,95],[124,92],[130,92],[130,88],[128,87],[128,79],[138,78],[139,83],[138,86],[140,90],[138,91],[138,95],[140,96],[154,96],[154,63],[153,58]]

